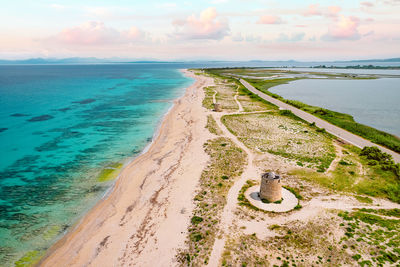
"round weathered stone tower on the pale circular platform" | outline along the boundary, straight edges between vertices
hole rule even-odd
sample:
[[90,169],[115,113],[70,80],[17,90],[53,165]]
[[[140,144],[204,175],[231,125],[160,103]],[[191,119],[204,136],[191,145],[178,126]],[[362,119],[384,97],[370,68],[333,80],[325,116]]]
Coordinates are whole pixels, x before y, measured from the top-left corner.
[[261,176],[260,198],[268,202],[282,199],[281,177],[274,172],[267,172]]

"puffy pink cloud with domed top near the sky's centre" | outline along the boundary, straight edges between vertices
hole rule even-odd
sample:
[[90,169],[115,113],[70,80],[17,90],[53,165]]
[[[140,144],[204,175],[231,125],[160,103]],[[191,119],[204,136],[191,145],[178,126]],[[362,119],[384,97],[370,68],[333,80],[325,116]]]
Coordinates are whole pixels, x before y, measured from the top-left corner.
[[180,39],[212,39],[220,40],[229,35],[226,20],[218,19],[215,8],[210,7],[201,12],[199,17],[189,16],[186,20],[175,20],[174,35]]

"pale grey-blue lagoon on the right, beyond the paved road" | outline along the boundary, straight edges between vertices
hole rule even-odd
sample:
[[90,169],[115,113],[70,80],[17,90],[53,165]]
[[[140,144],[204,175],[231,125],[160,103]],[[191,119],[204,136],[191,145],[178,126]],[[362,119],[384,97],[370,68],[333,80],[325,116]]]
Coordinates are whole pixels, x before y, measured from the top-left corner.
[[270,89],[286,99],[347,113],[357,122],[400,136],[400,79],[298,80]]

